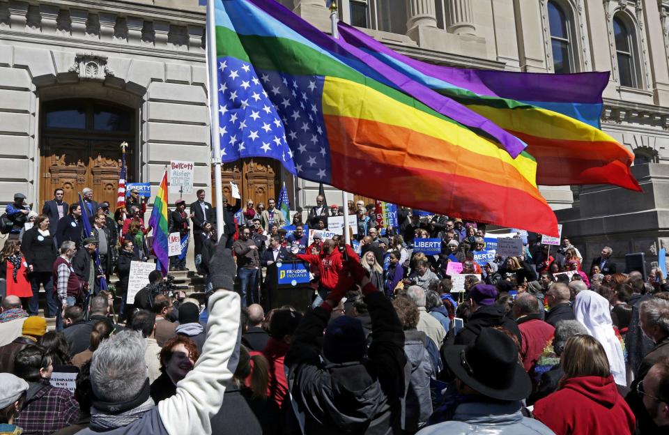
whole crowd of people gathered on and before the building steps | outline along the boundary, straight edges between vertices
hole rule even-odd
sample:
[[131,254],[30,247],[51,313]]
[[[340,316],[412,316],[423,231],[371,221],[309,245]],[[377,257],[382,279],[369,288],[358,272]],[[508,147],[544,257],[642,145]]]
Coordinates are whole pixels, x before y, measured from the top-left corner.
[[[0,433],[669,431],[666,277],[622,273],[610,247],[587,263],[566,236],[548,247],[518,232],[521,254],[479,264],[482,224],[400,208],[387,229],[353,202],[348,245],[321,232],[339,215],[323,197],[290,223],[273,199],[225,202],[216,240],[199,191],[188,213],[175,204],[170,225],[192,231],[206,292],[169,291],[156,270],[117,316],[130,261],[151,257],[151,229],[141,200],[121,219],[92,195],[92,236],[56,190],[0,253]],[[7,215],[28,222],[24,199]],[[440,239],[440,252],[420,252],[420,238]],[[311,305],[266,305],[262,270],[287,260],[309,267]],[[449,263],[461,265],[462,289]],[[112,275],[116,295],[98,288]],[[38,315],[40,287],[55,330]]]

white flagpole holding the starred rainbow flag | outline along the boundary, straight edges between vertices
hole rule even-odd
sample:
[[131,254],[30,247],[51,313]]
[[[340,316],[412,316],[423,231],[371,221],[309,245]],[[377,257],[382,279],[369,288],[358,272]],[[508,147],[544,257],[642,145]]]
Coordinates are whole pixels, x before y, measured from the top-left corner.
[[218,137],[218,66],[216,56],[216,20],[215,4],[207,1],[207,66],[209,68],[209,114],[211,117],[211,146],[213,149],[212,165],[214,167],[214,188],[216,192],[216,233],[217,240],[223,235],[223,183],[221,179],[221,144]]

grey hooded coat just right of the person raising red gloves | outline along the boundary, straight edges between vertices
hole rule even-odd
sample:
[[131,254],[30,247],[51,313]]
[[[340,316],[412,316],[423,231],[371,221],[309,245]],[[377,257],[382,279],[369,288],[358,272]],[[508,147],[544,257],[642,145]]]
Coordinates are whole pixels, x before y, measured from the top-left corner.
[[418,330],[404,331],[404,353],[411,377],[403,401],[402,428],[410,433],[427,422],[432,413],[430,380],[436,379],[438,367],[433,365],[428,344],[431,340]]

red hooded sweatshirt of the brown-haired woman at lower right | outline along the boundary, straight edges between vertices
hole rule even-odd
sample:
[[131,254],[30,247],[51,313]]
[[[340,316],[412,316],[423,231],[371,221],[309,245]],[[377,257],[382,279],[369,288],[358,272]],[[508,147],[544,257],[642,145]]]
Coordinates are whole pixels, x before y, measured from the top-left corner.
[[560,390],[539,400],[533,413],[556,435],[633,434],[636,422],[613,376],[567,379]]

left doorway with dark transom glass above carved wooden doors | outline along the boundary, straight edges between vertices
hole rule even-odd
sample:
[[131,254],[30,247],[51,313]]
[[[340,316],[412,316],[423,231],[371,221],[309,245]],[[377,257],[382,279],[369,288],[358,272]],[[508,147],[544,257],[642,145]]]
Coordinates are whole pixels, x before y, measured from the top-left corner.
[[[40,208],[65,190],[72,204],[83,188],[95,201],[116,205],[121,172],[121,142],[128,142],[126,165],[134,167],[134,110],[99,100],[54,100],[42,107],[40,144]],[[132,171],[129,171],[132,174]],[[127,178],[132,181],[132,176]]]

